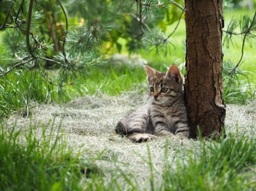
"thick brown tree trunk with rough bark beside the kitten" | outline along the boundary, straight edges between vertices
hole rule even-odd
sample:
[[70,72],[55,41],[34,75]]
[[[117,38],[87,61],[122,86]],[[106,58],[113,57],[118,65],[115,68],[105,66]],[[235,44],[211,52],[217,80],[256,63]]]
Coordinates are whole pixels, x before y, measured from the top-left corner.
[[221,0],[186,0],[187,32],[185,100],[191,137],[218,138],[224,129],[222,97]]

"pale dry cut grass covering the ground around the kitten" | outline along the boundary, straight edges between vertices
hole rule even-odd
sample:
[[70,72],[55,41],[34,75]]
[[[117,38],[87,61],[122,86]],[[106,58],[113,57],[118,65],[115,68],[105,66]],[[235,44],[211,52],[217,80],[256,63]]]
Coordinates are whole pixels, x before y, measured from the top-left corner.
[[[141,95],[140,95],[141,96]],[[98,167],[105,172],[112,169],[122,169],[131,173],[135,178],[147,184],[150,176],[148,166],[148,148],[151,162],[157,174],[163,169],[166,160],[166,142],[168,141],[168,160],[180,160],[186,153],[197,151],[199,141],[192,139],[167,139],[157,138],[146,143],[133,143],[114,132],[118,120],[135,108],[146,103],[146,95],[138,97],[134,92],[127,95],[114,96],[86,96],[66,104],[36,104],[30,111],[30,116],[22,117],[13,114],[7,126],[16,124],[24,133],[29,126],[34,126],[35,133],[42,135],[42,126],[46,131],[59,135],[74,151],[80,151],[85,158],[95,158]],[[256,103],[249,105],[227,105],[226,133],[233,135],[256,135]],[[114,162],[113,162],[114,161]],[[175,164],[175,163],[174,163]],[[155,177],[156,179],[160,177]]]

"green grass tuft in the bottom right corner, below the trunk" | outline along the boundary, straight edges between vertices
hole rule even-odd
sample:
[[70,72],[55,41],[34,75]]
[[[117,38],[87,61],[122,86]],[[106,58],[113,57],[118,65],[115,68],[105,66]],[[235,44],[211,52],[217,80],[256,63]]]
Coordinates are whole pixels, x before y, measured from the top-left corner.
[[[200,141],[200,152],[177,162],[167,163],[159,190],[253,190],[256,142],[242,136],[221,139],[220,143]],[[252,179],[247,179],[252,177]]]

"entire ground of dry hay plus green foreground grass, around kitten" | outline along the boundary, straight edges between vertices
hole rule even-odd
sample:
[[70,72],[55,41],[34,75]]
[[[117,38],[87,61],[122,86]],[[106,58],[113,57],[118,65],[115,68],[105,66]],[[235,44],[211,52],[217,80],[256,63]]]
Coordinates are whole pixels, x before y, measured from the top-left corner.
[[254,190],[255,104],[228,105],[218,142],[115,135],[142,102],[93,95],[13,114],[0,126],[0,190]]

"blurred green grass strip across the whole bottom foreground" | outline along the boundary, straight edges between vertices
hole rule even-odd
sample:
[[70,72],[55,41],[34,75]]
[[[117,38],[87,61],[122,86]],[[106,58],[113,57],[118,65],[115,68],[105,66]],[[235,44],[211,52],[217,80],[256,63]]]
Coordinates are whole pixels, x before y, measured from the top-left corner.
[[[142,183],[136,174],[123,169],[124,165],[136,164],[132,164],[132,159],[131,164],[123,164],[118,160],[118,152],[104,159],[113,165],[106,170],[96,165],[103,160],[106,149],[93,156],[79,151],[80,148],[74,150],[63,141],[63,135],[55,134],[53,125],[46,125],[41,134],[35,134],[36,127],[32,125],[26,132],[17,128],[1,125],[0,190],[240,191],[254,190],[256,186],[256,142],[247,136],[229,134],[220,142],[200,139],[192,147],[183,146],[182,157],[179,149],[173,152],[175,140],[166,139],[162,148],[142,143],[146,153],[137,151],[144,161],[144,169],[140,170],[150,173]],[[162,168],[151,154],[159,149],[164,151]]]

